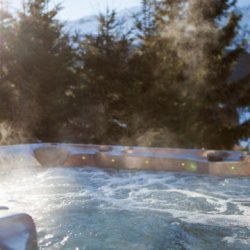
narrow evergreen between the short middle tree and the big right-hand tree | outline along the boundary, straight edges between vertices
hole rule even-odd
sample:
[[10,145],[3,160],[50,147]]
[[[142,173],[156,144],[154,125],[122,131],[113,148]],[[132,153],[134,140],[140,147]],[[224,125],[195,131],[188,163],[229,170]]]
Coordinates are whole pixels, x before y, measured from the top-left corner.
[[[139,42],[130,69],[137,95],[132,130],[134,143],[141,144],[143,140],[137,138],[144,138],[147,146],[176,146],[170,128],[176,130],[182,71],[175,60],[176,52],[162,35],[156,10],[157,1],[142,1],[142,14],[136,22]],[[160,137],[165,140],[159,140]]]

